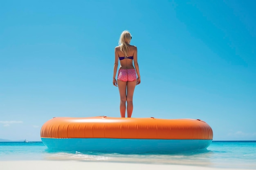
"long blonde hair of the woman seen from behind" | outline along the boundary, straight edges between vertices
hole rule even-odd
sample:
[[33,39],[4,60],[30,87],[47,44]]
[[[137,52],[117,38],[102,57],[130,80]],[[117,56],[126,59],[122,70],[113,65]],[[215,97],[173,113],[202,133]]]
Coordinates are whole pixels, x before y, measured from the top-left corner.
[[129,46],[128,42],[132,39],[132,35],[129,31],[123,31],[119,38],[120,50],[124,53],[125,57],[128,57]]

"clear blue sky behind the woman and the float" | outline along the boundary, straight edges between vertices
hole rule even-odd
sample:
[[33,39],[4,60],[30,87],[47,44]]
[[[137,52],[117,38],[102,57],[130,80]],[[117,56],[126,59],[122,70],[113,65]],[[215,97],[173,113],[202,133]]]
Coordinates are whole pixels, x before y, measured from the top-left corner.
[[206,121],[213,140],[256,140],[256,2],[4,1],[0,138],[40,141],[52,117],[119,117],[122,31],[138,48],[132,117]]

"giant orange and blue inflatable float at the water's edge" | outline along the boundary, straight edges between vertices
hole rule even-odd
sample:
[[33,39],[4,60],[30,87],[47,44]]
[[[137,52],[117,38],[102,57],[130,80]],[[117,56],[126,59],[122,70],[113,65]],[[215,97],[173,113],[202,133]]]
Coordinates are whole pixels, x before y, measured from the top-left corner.
[[55,117],[41,128],[51,149],[86,152],[180,152],[207,148],[211,127],[199,119]]

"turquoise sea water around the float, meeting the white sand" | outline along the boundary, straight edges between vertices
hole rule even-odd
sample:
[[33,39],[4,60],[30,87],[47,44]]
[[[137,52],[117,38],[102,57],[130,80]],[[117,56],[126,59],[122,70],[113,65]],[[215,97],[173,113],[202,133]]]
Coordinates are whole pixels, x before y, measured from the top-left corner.
[[79,152],[79,150],[63,152],[48,149],[42,142],[0,142],[0,161],[8,160],[109,161],[256,169],[256,141],[213,141],[207,149],[193,152],[141,154]]

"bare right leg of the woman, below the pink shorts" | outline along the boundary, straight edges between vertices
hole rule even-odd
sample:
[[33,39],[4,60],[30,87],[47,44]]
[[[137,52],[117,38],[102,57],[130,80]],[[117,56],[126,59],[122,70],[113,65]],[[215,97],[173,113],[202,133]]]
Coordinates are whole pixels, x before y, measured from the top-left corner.
[[133,110],[133,104],[132,104],[132,98],[133,98],[133,92],[135,89],[137,83],[137,79],[133,82],[127,82],[127,117],[132,117],[132,110]]

